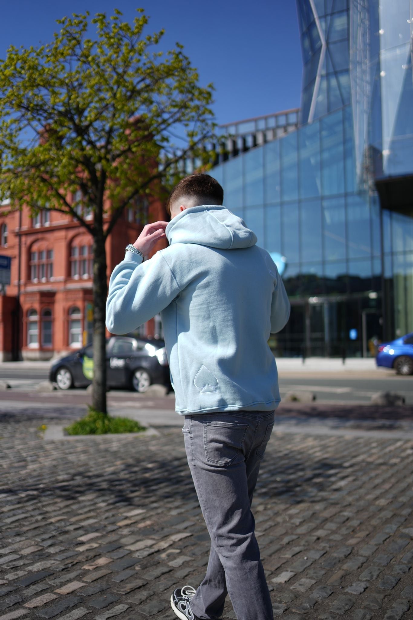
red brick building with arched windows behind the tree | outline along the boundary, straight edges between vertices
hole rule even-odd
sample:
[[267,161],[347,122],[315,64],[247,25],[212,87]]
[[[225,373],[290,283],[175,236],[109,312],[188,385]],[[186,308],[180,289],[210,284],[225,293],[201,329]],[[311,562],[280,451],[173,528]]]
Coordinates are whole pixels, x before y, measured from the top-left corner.
[[[0,255],[11,257],[11,283],[0,294],[0,361],[15,358],[19,348],[22,358],[37,360],[76,350],[92,337],[92,236],[71,215],[8,210],[0,205]],[[145,218],[167,219],[159,200],[142,198],[124,210],[107,239],[108,278]],[[159,322],[149,321],[141,334],[159,335]]]

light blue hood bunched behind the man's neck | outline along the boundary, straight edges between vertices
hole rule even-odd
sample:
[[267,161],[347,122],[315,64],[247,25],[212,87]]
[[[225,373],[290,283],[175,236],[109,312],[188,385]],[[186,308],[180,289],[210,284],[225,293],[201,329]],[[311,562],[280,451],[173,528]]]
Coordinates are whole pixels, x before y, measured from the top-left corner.
[[236,250],[254,246],[257,237],[245,222],[225,206],[201,205],[182,211],[165,230],[170,245],[194,243],[199,246]]

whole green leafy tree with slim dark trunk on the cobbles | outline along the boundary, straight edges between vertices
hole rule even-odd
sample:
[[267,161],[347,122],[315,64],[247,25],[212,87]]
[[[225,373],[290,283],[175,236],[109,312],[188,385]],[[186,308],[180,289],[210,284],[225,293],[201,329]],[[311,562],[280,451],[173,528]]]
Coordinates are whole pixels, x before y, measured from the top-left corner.
[[0,200],[70,214],[93,237],[92,401],[105,413],[105,241],[124,208],[160,192],[189,154],[208,159],[215,126],[212,85],[199,86],[179,43],[159,51],[163,30],[146,34],[147,22],[143,9],[133,23],[116,9],[73,14],[51,43],[11,46],[0,61]]

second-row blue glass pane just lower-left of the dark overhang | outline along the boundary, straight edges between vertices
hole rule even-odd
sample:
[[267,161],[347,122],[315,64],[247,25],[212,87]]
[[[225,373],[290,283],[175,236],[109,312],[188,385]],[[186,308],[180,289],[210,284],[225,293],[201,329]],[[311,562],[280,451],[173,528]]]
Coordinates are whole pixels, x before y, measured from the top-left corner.
[[347,198],[347,235],[350,259],[370,256],[370,209],[359,196]]

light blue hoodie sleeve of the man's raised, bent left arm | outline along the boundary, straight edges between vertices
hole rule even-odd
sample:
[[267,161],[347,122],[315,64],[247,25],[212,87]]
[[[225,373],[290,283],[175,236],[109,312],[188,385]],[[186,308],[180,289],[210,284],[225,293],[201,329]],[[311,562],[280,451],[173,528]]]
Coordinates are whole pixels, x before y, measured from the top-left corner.
[[162,251],[145,262],[126,252],[110,277],[106,326],[111,334],[127,334],[166,308],[179,293]]

